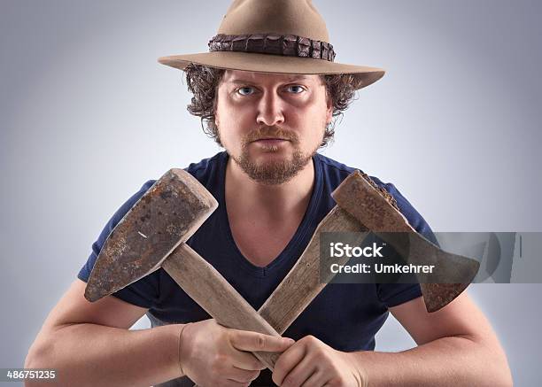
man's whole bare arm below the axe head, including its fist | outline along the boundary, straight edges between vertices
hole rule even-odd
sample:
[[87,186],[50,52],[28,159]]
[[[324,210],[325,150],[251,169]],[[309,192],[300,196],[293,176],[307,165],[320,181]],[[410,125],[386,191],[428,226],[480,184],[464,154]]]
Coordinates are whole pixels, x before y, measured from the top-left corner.
[[418,347],[405,352],[340,352],[312,336],[286,350],[275,365],[279,385],[510,386],[505,353],[466,294],[436,313],[422,298],[391,308]]

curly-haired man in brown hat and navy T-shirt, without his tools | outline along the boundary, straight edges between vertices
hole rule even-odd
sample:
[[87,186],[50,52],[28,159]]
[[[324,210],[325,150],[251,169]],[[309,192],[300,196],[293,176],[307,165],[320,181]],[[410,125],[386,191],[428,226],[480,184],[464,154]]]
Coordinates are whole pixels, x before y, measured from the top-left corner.
[[[334,63],[310,0],[235,1],[209,45],[209,53],[160,59],[186,72],[189,111],[226,150],[187,167],[219,202],[188,244],[258,309],[353,171],[316,152],[332,138],[333,117],[383,71]],[[399,190],[373,180],[435,240]],[[84,286],[105,238],[152,183],[107,223],[26,367],[58,368],[63,385],[78,386],[511,384],[506,356],[468,296],[429,314],[417,284],[330,284],[285,332],[293,340],[219,326],[162,269],[90,304]],[[372,351],[389,312],[418,347]],[[128,331],[143,313],[153,328]],[[283,352],[273,375],[251,351]]]

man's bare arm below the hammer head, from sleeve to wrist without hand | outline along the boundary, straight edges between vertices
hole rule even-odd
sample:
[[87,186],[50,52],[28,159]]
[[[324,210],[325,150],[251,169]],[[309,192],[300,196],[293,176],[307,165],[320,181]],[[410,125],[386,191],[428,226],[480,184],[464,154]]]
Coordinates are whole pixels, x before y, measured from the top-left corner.
[[81,387],[150,386],[181,375],[181,325],[130,331],[146,309],[112,296],[90,303],[85,285],[76,280],[50,312],[25,368],[56,368],[56,385]]

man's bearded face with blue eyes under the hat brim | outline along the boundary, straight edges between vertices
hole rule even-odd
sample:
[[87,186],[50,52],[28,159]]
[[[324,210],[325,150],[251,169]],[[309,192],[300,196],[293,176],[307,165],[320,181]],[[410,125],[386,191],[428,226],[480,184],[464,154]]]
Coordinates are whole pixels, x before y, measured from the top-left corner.
[[320,147],[332,104],[320,75],[227,70],[215,123],[230,157],[253,180],[282,184]]

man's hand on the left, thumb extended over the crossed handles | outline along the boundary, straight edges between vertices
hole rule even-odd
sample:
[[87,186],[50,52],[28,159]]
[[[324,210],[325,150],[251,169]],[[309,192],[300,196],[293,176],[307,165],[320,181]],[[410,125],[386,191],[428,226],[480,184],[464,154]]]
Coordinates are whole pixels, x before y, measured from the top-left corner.
[[228,329],[213,319],[192,322],[182,331],[182,372],[204,387],[248,386],[266,368],[250,352],[284,352],[291,344],[290,338]]

